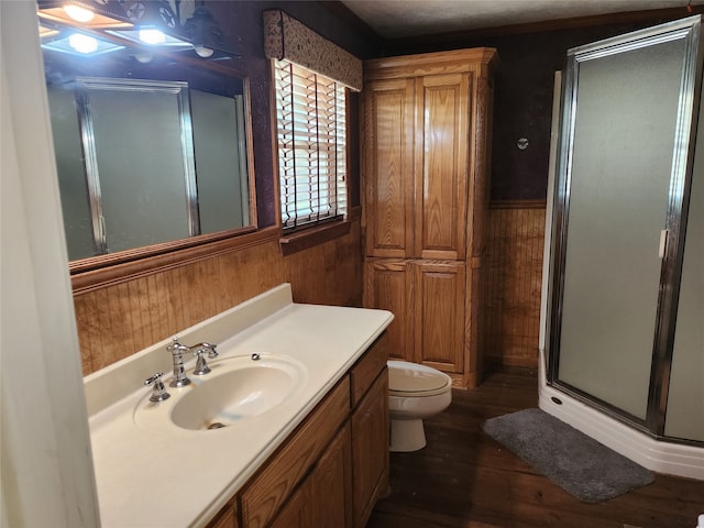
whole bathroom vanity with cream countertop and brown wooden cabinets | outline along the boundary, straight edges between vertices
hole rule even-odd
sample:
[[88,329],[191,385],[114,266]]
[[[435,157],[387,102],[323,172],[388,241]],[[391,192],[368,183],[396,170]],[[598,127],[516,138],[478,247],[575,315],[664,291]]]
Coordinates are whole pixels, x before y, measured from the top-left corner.
[[[220,353],[202,378],[195,360],[186,363],[187,387],[168,386],[169,341],[88,376],[102,526],[364,526],[388,487],[392,320],[383,310],[294,304],[282,285],[178,336]],[[176,420],[196,389],[239,362],[293,365],[295,383],[276,405],[221,428]],[[168,373],[170,394],[156,404],[142,385],[155,372]]]

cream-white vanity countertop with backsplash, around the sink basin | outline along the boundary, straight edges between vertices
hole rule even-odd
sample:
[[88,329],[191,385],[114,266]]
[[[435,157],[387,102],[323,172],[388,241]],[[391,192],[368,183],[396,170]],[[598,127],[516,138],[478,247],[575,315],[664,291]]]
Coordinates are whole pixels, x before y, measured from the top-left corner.
[[[302,388],[246,428],[162,430],[135,424],[134,410],[151,392],[144,380],[158,370],[170,373],[169,340],[87,376],[102,527],[205,525],[392,320],[384,310],[294,304],[289,285],[282,285],[180,332],[187,345],[218,344],[220,358],[210,364],[256,352],[284,354],[304,365]],[[194,364],[186,363],[188,373]],[[170,374],[164,378],[172,394],[190,388],[168,387]]]

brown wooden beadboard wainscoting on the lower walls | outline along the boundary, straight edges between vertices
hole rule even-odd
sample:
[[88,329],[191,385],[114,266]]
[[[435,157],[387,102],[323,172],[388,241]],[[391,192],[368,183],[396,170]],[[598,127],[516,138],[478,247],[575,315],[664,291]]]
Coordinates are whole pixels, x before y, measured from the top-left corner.
[[[485,363],[537,367],[544,202],[490,209]],[[362,306],[359,215],[349,234],[282,256],[277,240],[76,294],[84,374],[288,282],[297,302]]]

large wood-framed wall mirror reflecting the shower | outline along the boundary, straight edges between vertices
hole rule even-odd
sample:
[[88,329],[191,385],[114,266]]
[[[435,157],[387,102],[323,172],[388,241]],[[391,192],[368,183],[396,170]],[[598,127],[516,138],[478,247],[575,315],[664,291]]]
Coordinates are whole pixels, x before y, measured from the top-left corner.
[[88,32],[51,29],[42,48],[72,271],[254,230],[245,78],[105,35],[86,53],[69,38]]

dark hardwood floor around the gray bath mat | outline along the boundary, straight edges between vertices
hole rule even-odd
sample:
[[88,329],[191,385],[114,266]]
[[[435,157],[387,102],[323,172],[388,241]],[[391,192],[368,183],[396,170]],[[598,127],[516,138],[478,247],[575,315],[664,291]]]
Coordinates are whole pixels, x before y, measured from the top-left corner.
[[392,453],[392,493],[367,528],[695,528],[704,514],[704,482],[660,474],[612,501],[582,503],[484,433],[487,418],[537,407],[535,371],[494,373],[452,396],[426,420],[425,449]]

